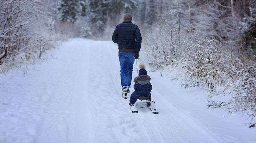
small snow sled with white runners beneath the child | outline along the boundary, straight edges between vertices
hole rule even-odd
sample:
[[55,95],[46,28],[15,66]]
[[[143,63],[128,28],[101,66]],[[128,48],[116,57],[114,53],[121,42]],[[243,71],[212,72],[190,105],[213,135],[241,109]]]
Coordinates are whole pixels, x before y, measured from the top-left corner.
[[155,102],[151,101],[151,97],[139,97],[139,100],[133,106],[130,106],[132,113],[138,113],[137,108],[150,108],[152,113],[158,114],[155,108]]

